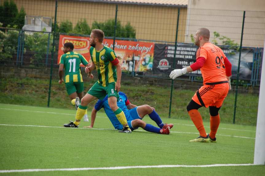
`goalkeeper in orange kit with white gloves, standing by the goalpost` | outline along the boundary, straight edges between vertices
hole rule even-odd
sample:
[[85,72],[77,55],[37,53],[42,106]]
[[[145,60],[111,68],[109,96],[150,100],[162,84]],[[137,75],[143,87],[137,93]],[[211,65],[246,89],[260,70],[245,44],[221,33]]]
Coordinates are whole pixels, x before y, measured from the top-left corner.
[[[219,109],[221,108],[228,90],[231,89],[230,77],[232,64],[218,46],[209,42],[210,31],[206,28],[197,30],[194,39],[199,47],[196,62],[182,69],[175,69],[170,73],[170,78],[201,69],[203,86],[193,95],[187,106],[187,111],[200,136],[190,142],[216,142],[216,132],[220,124]],[[209,107],[210,111],[210,134],[206,134],[201,114],[198,109]]]

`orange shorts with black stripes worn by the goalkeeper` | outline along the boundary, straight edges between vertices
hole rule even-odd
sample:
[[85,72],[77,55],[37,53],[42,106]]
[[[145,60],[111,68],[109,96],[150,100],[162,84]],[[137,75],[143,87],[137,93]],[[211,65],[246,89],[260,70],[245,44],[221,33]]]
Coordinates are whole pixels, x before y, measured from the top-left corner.
[[224,98],[228,94],[229,84],[227,81],[206,83],[193,95],[192,100],[197,104],[205,106],[221,107]]

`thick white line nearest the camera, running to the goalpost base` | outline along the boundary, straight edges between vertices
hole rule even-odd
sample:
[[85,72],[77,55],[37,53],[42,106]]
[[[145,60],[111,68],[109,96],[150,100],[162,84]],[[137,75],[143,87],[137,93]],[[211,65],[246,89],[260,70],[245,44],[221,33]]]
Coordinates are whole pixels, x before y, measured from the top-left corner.
[[135,168],[166,168],[166,167],[220,167],[220,166],[254,166],[254,164],[211,164],[211,165],[157,165],[157,166],[117,166],[117,167],[83,167],[83,168],[62,168],[62,169],[21,169],[21,170],[0,170],[0,173],[10,172],[41,172],[41,171],[79,171],[79,170],[121,170]]

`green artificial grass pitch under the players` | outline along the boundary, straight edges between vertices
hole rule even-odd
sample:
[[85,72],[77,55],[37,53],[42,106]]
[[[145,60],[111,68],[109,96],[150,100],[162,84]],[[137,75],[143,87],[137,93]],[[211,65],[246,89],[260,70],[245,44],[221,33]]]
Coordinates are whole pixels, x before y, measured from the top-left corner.
[[[212,165],[253,163],[255,126],[222,123],[217,143],[191,143],[198,136],[190,120],[173,123],[170,135],[114,130],[98,112],[94,129],[58,128],[74,120],[74,109],[0,104],[1,175],[264,175],[265,166],[161,167],[100,170],[116,166]],[[159,112],[158,112],[159,113]],[[90,112],[88,113],[88,115]],[[155,125],[148,116],[143,118]],[[209,122],[204,122],[206,132]],[[2,170],[99,168],[76,171],[10,172]]]

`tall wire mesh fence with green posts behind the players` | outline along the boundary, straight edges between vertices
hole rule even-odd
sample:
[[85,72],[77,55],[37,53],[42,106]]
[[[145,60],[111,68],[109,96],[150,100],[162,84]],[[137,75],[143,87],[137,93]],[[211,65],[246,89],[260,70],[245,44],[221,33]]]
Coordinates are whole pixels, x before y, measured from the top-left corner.
[[[19,9],[25,8],[25,25],[33,28],[1,27],[0,102],[69,108],[65,88],[57,84],[60,39],[62,35],[88,38],[91,29],[100,28],[106,36],[103,43],[114,48],[121,59],[122,91],[131,102],[150,104],[162,117],[188,119],[186,106],[201,86],[200,71],[174,81],[168,75],[172,69],[195,61],[193,36],[198,28],[206,27],[211,32],[210,41],[220,46],[232,63],[233,89],[220,110],[222,122],[256,124],[265,12],[81,1],[15,2]],[[12,21],[10,16],[6,18]],[[49,19],[53,19],[52,31]],[[84,81],[87,91],[93,81]],[[208,109],[200,112],[209,119]]]

